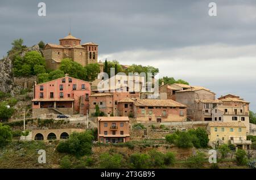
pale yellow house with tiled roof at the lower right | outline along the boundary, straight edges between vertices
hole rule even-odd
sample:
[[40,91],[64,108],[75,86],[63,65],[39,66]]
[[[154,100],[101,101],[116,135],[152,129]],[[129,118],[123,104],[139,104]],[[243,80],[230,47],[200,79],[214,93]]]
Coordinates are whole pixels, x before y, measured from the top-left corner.
[[250,149],[251,140],[246,140],[246,126],[242,122],[209,122],[207,131],[212,147],[231,143],[241,149]]

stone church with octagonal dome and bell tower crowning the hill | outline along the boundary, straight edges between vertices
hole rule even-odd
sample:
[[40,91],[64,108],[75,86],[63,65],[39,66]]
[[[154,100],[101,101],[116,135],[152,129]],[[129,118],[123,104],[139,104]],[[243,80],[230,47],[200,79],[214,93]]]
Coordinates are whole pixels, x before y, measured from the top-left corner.
[[[70,32],[67,37],[59,41],[59,45],[46,44],[42,50],[47,68],[56,70],[60,66],[61,59],[64,58],[71,58],[82,66],[98,62],[98,45],[94,42],[81,44],[81,40],[72,36]],[[103,71],[103,64],[99,64]]]

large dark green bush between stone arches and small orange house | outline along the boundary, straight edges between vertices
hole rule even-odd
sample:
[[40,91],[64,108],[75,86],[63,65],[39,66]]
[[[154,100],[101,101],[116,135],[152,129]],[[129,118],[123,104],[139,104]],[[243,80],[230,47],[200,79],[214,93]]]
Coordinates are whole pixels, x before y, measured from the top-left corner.
[[72,155],[83,156],[92,153],[93,136],[88,132],[73,132],[70,138],[60,142],[56,149],[61,153],[70,153]]

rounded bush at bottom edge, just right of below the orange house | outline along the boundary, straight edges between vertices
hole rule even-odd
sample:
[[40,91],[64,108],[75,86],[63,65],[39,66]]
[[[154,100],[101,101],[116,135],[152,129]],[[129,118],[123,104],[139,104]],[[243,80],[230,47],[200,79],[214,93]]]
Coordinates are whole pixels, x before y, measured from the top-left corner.
[[150,167],[150,156],[147,154],[135,153],[129,157],[129,163],[132,168],[144,169]]

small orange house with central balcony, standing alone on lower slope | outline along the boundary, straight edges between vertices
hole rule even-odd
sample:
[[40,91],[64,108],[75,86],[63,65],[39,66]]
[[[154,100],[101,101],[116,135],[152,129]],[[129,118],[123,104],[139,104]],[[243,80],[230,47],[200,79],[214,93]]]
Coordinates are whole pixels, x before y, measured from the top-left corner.
[[125,143],[130,140],[128,117],[98,117],[98,141]]

